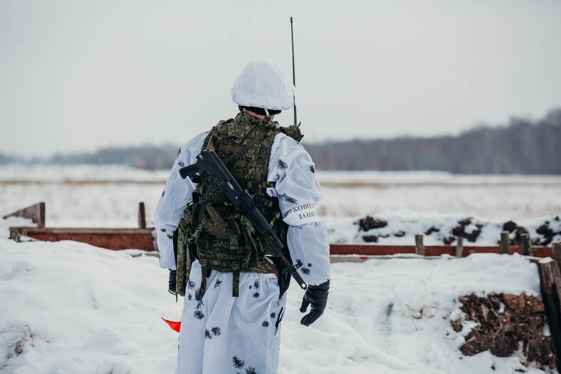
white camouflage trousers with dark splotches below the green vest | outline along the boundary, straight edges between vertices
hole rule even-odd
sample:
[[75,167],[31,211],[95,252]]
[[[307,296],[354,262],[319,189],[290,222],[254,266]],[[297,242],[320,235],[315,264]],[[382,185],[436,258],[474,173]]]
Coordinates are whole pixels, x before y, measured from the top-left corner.
[[277,373],[286,307],[277,276],[241,273],[239,297],[232,297],[232,273],[213,270],[203,297],[200,284],[195,261],[181,315],[176,374]]

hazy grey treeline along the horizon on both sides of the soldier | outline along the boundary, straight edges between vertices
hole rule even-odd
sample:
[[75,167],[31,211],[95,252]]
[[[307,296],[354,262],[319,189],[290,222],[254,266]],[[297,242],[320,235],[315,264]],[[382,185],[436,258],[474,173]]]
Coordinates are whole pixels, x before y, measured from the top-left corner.
[[[187,139],[186,139],[187,140]],[[466,174],[561,174],[561,109],[539,121],[513,118],[504,127],[479,126],[458,136],[306,144],[322,170],[445,170]],[[169,169],[180,145],[107,147],[94,153],[56,154],[34,162],[127,164]],[[29,161],[29,160],[27,160]],[[0,164],[26,162],[0,154]]]

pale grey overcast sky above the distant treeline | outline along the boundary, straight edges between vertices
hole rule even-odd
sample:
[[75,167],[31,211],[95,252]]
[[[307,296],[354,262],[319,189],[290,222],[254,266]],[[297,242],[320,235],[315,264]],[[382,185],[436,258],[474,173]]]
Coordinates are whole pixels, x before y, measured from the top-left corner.
[[561,107],[559,0],[1,0],[0,151],[182,144],[235,116],[247,62],[291,73],[290,16],[304,144]]

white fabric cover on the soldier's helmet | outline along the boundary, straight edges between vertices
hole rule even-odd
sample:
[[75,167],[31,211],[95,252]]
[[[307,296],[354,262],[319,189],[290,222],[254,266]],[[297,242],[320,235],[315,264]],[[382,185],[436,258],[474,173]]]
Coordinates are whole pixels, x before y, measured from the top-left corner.
[[284,110],[294,105],[296,89],[282,67],[255,61],[243,68],[230,93],[242,107]]

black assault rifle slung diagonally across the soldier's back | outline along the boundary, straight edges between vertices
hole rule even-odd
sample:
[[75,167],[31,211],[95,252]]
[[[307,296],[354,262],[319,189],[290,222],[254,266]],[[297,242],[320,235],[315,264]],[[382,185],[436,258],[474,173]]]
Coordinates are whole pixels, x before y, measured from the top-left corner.
[[242,187],[232,176],[230,170],[228,170],[226,165],[224,165],[213,150],[206,149],[202,151],[197,155],[197,161],[194,164],[179,170],[181,178],[183,179],[192,174],[202,174],[203,172],[209,173],[210,177],[214,179],[214,182],[218,184],[218,187],[220,187],[220,190],[224,193],[224,196],[236,207],[236,210],[251,221],[259,237],[264,239],[265,243],[271,248],[275,256],[277,256],[284,269],[292,275],[292,278],[298,282],[298,285],[300,285],[302,289],[306,289],[308,287],[306,282],[296,271],[301,265],[292,265],[288,262],[286,257],[284,257],[282,254],[284,244],[274,233],[273,228],[267,222],[263,214],[261,214],[259,208],[257,208],[255,200],[253,200],[247,190],[242,190]]

